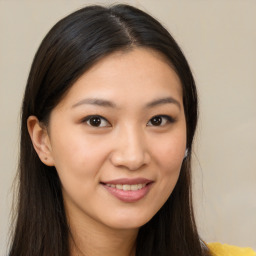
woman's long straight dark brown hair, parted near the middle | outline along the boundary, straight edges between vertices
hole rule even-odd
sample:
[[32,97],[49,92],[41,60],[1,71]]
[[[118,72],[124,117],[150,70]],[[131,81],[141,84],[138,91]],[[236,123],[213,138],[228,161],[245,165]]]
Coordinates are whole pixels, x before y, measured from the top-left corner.
[[183,87],[188,156],[174,191],[139,230],[136,256],[208,255],[192,208],[191,150],[197,124],[197,92],[188,63],[167,30],[150,15],[128,5],[90,6],[59,21],[39,47],[27,81],[19,162],[19,195],[10,256],[68,256],[70,231],[61,184],[54,167],[37,156],[27,131],[35,115],[47,125],[52,109],[92,65],[115,51],[135,47],[165,56]]

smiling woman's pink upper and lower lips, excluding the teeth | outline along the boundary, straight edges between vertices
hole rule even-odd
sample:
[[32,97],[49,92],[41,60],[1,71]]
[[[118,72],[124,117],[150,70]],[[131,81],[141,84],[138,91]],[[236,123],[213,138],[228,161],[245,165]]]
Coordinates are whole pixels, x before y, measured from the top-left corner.
[[[139,190],[122,190],[117,188],[112,188],[107,186],[107,184],[113,184],[113,185],[135,185],[135,184],[146,184],[145,187],[139,189]],[[137,202],[141,199],[143,199],[149,190],[151,189],[151,186],[153,184],[152,180],[148,180],[145,178],[135,178],[135,179],[116,179],[116,180],[109,180],[101,182],[101,185],[114,197],[117,199],[126,202],[126,203],[132,203]]]

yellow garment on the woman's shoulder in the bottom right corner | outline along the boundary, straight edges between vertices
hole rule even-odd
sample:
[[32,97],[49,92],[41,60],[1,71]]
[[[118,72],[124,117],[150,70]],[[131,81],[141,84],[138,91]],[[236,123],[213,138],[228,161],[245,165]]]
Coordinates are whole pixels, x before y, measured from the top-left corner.
[[251,248],[242,248],[221,243],[207,244],[212,256],[256,256]]

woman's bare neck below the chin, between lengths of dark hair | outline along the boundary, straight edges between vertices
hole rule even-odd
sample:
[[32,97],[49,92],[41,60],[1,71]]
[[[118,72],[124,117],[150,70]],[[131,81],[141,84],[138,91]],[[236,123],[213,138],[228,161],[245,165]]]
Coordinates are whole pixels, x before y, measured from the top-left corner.
[[70,217],[69,225],[71,256],[135,256],[138,229],[113,229]]

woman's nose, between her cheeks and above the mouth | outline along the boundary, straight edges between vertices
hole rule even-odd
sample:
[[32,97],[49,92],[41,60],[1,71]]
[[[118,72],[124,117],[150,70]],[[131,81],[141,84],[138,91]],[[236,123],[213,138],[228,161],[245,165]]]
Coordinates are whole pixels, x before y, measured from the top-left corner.
[[117,167],[134,171],[151,161],[145,136],[134,129],[119,134],[114,145],[111,162]]

